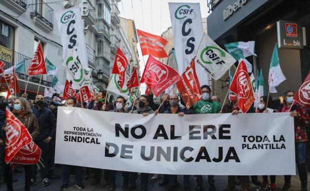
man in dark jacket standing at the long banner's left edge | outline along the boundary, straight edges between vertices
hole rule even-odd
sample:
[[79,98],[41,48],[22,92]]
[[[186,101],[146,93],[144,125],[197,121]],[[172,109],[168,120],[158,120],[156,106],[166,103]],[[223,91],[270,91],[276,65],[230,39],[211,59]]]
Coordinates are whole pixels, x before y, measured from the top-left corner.
[[[42,185],[47,187],[50,185],[49,179],[60,179],[59,176],[52,173],[53,165],[53,144],[56,136],[56,118],[52,110],[44,107],[44,97],[37,95],[35,98],[35,106],[32,108],[33,114],[37,117],[40,134],[37,138],[37,145],[42,149],[41,158],[43,159],[43,165],[41,165],[41,177]],[[33,165],[31,184],[36,184],[37,166]]]

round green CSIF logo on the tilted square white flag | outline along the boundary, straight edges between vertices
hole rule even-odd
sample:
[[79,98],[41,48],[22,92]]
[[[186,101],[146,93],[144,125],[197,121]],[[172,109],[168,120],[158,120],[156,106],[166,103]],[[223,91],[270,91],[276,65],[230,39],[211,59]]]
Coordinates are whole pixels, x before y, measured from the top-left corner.
[[[204,60],[204,55],[207,55],[209,58],[207,61]],[[225,61],[223,61],[225,57],[226,54],[222,49],[213,46],[204,48],[200,53],[200,59],[204,64],[225,64]]]

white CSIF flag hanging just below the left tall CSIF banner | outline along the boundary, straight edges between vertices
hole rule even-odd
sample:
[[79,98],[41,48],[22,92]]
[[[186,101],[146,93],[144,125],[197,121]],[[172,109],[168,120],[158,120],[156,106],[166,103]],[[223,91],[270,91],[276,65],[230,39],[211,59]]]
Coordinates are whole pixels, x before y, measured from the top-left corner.
[[66,58],[64,66],[67,73],[71,77],[72,87],[74,89],[81,88],[86,81],[86,76],[84,68],[79,62],[77,51],[75,49],[71,49],[71,54],[69,54],[69,56]]

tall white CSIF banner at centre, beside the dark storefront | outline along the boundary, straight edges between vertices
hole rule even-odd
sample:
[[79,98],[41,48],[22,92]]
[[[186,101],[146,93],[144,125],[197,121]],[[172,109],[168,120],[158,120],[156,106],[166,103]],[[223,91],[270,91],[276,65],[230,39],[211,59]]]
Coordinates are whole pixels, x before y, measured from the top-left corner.
[[[203,35],[199,3],[168,2],[174,37],[174,50],[178,72],[181,75],[195,57]],[[208,84],[206,73],[196,64],[200,85]]]

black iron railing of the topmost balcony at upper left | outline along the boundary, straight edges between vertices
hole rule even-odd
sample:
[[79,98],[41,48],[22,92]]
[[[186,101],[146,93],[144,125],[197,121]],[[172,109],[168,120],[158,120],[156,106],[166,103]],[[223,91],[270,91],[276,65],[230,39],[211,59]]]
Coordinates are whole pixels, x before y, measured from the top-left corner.
[[43,0],[32,0],[31,18],[37,17],[45,24],[54,28],[54,10]]

